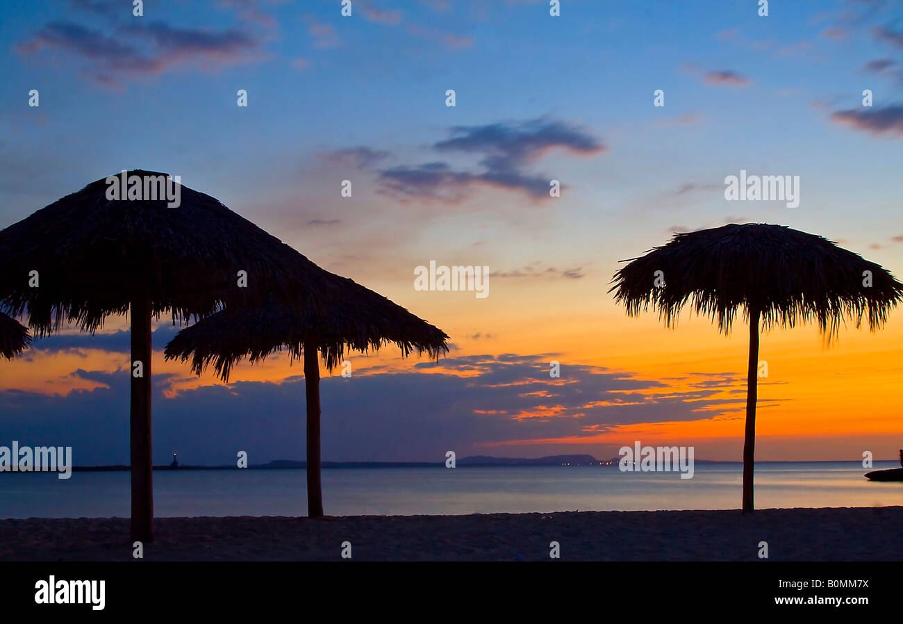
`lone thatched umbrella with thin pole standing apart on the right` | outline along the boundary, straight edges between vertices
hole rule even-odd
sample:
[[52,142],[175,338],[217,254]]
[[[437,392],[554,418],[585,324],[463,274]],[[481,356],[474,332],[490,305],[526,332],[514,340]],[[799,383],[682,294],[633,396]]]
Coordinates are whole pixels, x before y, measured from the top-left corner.
[[743,307],[749,319],[744,512],[753,510],[759,322],[768,330],[815,321],[831,340],[845,319],[859,327],[864,315],[871,331],[879,329],[903,300],[903,284],[880,265],[824,237],[759,223],[675,234],[620,269],[612,284],[609,292],[616,291],[629,316],[652,308],[668,327],[690,302],[727,334]]

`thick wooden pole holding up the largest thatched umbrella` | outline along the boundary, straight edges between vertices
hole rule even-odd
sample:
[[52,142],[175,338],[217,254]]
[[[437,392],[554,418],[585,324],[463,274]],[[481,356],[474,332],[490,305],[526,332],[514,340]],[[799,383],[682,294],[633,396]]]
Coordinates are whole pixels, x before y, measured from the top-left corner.
[[150,295],[143,294],[133,297],[131,306],[132,539],[152,542],[154,540],[154,460],[151,452],[152,310]]

